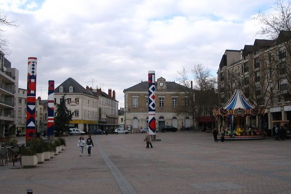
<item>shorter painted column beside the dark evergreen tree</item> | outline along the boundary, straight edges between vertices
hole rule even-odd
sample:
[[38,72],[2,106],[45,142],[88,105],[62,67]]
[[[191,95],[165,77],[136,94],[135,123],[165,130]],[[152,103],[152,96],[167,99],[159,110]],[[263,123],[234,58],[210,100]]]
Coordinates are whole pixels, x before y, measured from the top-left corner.
[[49,80],[48,97],[48,139],[53,139],[54,131],[54,81]]

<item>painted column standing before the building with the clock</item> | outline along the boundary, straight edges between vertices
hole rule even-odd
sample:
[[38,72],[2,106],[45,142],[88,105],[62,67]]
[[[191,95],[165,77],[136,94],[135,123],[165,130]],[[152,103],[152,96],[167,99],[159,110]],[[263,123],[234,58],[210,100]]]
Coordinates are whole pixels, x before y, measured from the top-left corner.
[[148,71],[148,132],[156,139],[156,81],[155,71]]

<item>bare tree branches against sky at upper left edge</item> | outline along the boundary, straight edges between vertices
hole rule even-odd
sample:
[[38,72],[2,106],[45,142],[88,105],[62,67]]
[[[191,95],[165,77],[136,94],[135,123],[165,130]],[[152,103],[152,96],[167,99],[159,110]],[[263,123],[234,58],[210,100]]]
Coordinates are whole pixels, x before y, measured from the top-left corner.
[[[17,26],[15,20],[9,20],[3,11],[0,10],[0,26]],[[8,47],[8,40],[3,37],[4,30],[0,28],[0,51],[4,54],[9,54],[10,50]]]

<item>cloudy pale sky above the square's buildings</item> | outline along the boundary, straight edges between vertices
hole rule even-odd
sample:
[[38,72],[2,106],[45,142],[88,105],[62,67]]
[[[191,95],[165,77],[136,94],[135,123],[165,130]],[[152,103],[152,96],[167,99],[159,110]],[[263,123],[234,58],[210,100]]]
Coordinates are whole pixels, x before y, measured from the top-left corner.
[[[156,78],[177,80],[184,66],[208,67],[214,76],[226,49],[252,45],[259,11],[275,0],[0,0],[0,9],[18,27],[4,28],[26,88],[27,58],[37,57],[37,96],[48,97],[71,77],[82,86],[116,91]],[[3,28],[3,27],[1,27]]]

